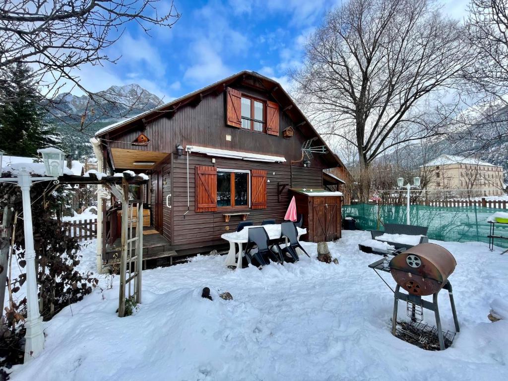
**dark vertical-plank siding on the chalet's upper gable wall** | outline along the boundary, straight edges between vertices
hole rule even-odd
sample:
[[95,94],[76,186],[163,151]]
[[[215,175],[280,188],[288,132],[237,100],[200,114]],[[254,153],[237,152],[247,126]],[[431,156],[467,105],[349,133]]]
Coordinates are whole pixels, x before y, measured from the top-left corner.
[[[263,94],[253,90],[240,89],[258,98]],[[147,123],[146,136],[150,142],[146,146],[133,146],[129,142],[136,139],[142,130],[134,128],[128,132],[113,135],[109,138],[111,148],[125,148],[133,150],[148,150],[172,153],[177,143],[199,145],[219,149],[229,149],[244,152],[256,152],[273,155],[283,155],[290,165],[291,161],[301,158],[302,144],[309,138],[302,135],[289,115],[282,110],[279,112],[279,133],[269,135],[233,128],[226,125],[225,100],[226,92],[218,95],[206,96],[196,107],[183,106],[174,116],[163,114],[161,117]],[[267,97],[264,97],[267,99]],[[293,126],[295,136],[290,139],[282,138],[282,131]],[[231,135],[231,141],[226,140]],[[301,163],[296,164],[302,166]],[[320,155],[315,155],[311,167],[325,168]],[[120,168],[119,168],[120,169]]]

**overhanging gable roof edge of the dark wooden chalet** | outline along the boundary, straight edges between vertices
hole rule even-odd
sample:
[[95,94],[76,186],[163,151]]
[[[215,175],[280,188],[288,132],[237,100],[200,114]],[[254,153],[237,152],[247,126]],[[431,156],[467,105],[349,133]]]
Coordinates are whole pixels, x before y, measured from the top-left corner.
[[330,163],[332,167],[344,167],[344,164],[340,160],[340,158],[333,153],[333,151],[328,147],[326,142],[321,138],[321,136],[314,130],[312,124],[305,117],[303,112],[298,108],[295,104],[291,96],[282,88],[282,86],[271,78],[265,77],[257,72],[244,70],[239,73],[236,73],[228,78],[220,80],[218,82],[212,83],[206,87],[203,87],[199,90],[193,91],[191,93],[186,94],[183,97],[175,99],[174,101],[168,102],[164,105],[158,106],[152,110],[148,110],[142,112],[138,115],[132,116],[128,119],[118,121],[116,123],[110,124],[105,128],[97,131],[94,136],[97,138],[104,137],[105,135],[112,133],[120,133],[121,131],[128,130],[134,126],[134,124],[139,122],[145,122],[152,119],[155,119],[161,116],[164,113],[174,113],[176,110],[182,106],[187,104],[193,104],[194,102],[199,102],[204,96],[210,93],[220,93],[226,90],[226,87],[233,82],[238,81],[239,79],[252,78],[253,82],[257,83],[257,86],[261,89],[268,91],[271,96],[281,104],[282,109],[286,112],[296,123],[293,126],[295,129],[299,129],[302,134],[304,134],[308,138],[317,137],[320,143],[326,146],[328,153],[324,156],[327,163]]

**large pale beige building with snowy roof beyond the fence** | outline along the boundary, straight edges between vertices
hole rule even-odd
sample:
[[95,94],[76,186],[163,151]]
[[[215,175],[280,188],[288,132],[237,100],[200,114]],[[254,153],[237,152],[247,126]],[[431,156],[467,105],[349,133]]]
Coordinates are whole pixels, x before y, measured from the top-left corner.
[[441,155],[420,168],[429,198],[504,195],[504,173],[500,166],[472,157]]

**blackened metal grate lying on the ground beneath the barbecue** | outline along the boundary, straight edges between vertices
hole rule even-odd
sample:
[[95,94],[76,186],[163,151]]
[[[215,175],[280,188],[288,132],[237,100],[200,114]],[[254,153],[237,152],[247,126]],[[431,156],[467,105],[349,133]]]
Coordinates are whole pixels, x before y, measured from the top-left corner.
[[[398,338],[416,345],[427,351],[439,351],[437,328],[423,322],[397,322],[396,334]],[[444,347],[452,345],[455,332],[443,331]]]

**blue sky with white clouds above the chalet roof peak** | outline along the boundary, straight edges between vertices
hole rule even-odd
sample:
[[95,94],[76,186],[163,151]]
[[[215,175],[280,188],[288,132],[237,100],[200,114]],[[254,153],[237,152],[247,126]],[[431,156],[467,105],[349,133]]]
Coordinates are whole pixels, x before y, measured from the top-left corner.
[[[241,70],[254,70],[288,86],[287,72],[301,65],[307,37],[341,0],[174,0],[180,20],[150,35],[131,23],[108,50],[113,65],[77,73],[92,91],[137,83],[165,101]],[[462,19],[467,0],[444,2]],[[168,9],[162,1],[158,12]]]

